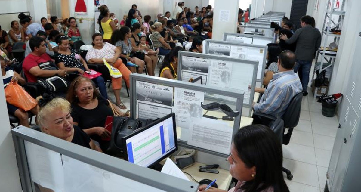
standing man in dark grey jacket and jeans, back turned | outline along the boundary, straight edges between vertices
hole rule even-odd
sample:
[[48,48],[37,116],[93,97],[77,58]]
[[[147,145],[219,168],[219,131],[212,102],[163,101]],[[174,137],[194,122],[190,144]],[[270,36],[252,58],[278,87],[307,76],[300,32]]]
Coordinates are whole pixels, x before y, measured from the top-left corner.
[[310,70],[315,51],[321,45],[321,33],[317,28],[312,27],[314,19],[311,16],[301,17],[301,29],[298,29],[290,39],[287,35],[280,34],[279,37],[285,40],[287,44],[297,43],[296,45],[296,59],[297,63],[293,70],[295,73],[299,72],[299,77],[302,83],[302,93],[304,96],[308,95],[307,85],[310,78]]

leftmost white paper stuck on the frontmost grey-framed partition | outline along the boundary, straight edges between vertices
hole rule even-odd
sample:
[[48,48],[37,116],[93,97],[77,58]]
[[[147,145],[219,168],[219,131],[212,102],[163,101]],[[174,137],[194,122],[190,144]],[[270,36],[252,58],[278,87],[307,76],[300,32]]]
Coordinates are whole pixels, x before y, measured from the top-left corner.
[[64,171],[60,153],[24,141],[31,180],[56,192],[64,192]]

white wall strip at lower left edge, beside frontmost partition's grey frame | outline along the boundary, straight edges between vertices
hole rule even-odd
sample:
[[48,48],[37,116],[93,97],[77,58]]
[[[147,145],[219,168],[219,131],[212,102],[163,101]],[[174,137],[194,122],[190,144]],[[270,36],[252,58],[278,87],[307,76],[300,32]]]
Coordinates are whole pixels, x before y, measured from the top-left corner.
[[[4,87],[0,82],[0,87]],[[0,189],[1,191],[21,192],[15,149],[10,134],[9,116],[6,108],[4,89],[0,89]]]

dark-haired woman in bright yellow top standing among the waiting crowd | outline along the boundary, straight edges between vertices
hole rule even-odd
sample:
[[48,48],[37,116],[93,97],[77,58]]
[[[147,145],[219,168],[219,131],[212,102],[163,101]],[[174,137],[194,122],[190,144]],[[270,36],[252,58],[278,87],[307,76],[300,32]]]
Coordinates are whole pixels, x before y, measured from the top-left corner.
[[113,19],[109,17],[110,12],[107,7],[100,6],[100,14],[103,16],[103,18],[100,20],[101,28],[104,31],[103,41],[106,43],[110,43],[110,38],[112,37],[112,33],[117,29],[117,26],[115,25]]

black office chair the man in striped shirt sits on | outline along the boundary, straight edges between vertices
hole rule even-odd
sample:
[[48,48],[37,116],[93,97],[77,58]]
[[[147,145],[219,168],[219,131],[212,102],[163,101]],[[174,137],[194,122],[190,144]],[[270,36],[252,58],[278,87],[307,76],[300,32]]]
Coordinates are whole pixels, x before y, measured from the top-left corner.
[[[291,135],[293,132],[293,128],[297,126],[300,115],[301,115],[301,103],[302,103],[302,93],[297,93],[291,100],[288,105],[284,115],[282,117],[284,126],[283,126],[283,135],[282,135],[282,143],[284,145],[288,145],[290,143]],[[271,122],[276,121],[272,115],[267,115],[264,113],[253,113],[253,124],[262,124],[262,125],[270,125]],[[288,129],[287,133],[286,128]],[[287,179],[292,180],[293,175],[291,171],[283,167],[283,172],[287,174]]]

